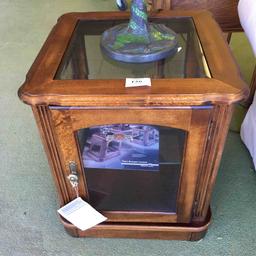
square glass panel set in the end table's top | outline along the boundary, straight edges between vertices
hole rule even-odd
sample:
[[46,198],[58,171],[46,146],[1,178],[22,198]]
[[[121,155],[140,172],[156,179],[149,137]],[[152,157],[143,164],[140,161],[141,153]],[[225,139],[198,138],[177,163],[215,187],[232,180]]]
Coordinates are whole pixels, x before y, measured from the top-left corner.
[[[125,20],[79,20],[55,75],[57,80],[210,77],[193,19],[190,17],[150,19],[177,34],[174,56],[149,63],[124,63],[110,59],[101,51],[102,33]],[[128,20],[127,20],[128,22]]]

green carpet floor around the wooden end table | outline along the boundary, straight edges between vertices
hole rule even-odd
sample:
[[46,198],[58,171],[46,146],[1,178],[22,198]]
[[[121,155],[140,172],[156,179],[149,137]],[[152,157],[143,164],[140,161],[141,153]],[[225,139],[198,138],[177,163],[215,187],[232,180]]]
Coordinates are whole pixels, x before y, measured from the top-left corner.
[[234,132],[228,136],[213,194],[213,222],[203,240],[78,239],[58,221],[33,115],[17,90],[61,14],[113,9],[110,0],[0,1],[0,256],[256,255],[256,174]]

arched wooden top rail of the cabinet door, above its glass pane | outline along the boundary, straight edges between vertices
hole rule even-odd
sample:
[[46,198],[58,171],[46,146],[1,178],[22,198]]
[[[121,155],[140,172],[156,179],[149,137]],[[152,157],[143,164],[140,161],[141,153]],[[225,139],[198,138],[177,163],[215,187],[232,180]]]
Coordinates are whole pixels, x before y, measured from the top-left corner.
[[[115,111],[115,115],[112,111]],[[63,112],[63,111],[61,111]],[[74,131],[98,125],[118,123],[137,123],[169,126],[182,130],[189,130],[191,109],[87,109],[66,110],[72,119]],[[120,116],[123,116],[121,119]],[[110,121],[111,120],[111,121]],[[168,120],[168,123],[167,121]]]

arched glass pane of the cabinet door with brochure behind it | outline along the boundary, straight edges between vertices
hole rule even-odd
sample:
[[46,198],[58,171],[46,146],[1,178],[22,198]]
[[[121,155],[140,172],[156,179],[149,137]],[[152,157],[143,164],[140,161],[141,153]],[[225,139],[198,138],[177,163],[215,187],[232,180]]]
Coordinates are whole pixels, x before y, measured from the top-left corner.
[[183,130],[141,124],[79,130],[92,206],[175,213],[185,136]]

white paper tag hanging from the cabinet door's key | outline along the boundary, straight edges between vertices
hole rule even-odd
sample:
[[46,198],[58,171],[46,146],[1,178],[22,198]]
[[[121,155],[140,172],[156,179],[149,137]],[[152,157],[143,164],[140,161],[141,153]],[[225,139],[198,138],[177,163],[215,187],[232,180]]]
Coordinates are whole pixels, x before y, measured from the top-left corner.
[[81,197],[61,207],[58,213],[81,230],[92,228],[107,219]]

